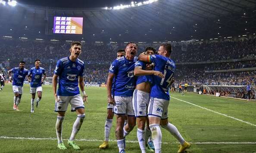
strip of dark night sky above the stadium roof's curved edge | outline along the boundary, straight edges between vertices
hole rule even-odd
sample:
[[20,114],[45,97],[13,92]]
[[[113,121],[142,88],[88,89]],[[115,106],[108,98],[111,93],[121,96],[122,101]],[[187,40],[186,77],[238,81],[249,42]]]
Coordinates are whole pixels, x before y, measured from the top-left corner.
[[[33,6],[49,6],[64,8],[97,8],[113,7],[120,4],[131,4],[132,0],[16,0],[18,3]],[[74,3],[73,3],[74,2]]]

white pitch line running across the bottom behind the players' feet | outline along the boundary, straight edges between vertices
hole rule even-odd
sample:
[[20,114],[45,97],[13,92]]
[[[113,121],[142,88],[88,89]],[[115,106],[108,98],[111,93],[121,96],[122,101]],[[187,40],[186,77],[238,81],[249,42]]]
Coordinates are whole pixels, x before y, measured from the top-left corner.
[[[57,140],[57,138],[25,138],[25,137],[7,137],[0,136],[0,139],[20,139],[20,140]],[[67,141],[68,139],[63,139]],[[76,139],[76,141],[91,141],[91,142],[101,142],[103,140],[97,139]],[[116,140],[110,140],[111,142],[116,142]],[[128,143],[138,143],[138,141],[126,141]],[[190,142],[191,144],[256,144],[256,142]],[[162,144],[179,144],[179,142],[162,142]]]

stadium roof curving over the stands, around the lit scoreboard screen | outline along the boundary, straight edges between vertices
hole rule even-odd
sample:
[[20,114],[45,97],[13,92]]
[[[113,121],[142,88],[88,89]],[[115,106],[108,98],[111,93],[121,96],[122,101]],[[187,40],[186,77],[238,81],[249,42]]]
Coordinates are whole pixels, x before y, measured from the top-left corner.
[[[115,4],[114,0],[107,1],[109,5]],[[70,4],[67,0],[61,2],[66,3],[63,6]],[[129,3],[125,0],[117,2],[118,5],[120,2]],[[96,6],[96,3],[91,0],[84,3]],[[100,0],[97,5],[100,6],[101,3],[103,0]],[[34,28],[41,27],[41,31],[51,34],[53,16],[84,17],[83,33],[90,35],[91,39],[112,37],[127,41],[134,40],[132,39],[134,37],[139,40],[162,38],[162,41],[172,41],[227,37],[256,32],[255,0],[158,0],[148,5],[120,10],[87,8],[85,5],[81,5],[85,7],[84,9],[56,8],[45,7],[43,2],[41,4],[37,3],[37,6],[20,4],[11,9],[0,6],[0,13],[6,14],[6,16],[2,15],[0,20],[3,18],[8,20],[10,16],[17,20],[26,18],[20,21],[22,25],[30,23]],[[56,4],[55,2],[53,6]],[[9,22],[16,24],[17,20]],[[45,26],[50,30],[45,30]]]

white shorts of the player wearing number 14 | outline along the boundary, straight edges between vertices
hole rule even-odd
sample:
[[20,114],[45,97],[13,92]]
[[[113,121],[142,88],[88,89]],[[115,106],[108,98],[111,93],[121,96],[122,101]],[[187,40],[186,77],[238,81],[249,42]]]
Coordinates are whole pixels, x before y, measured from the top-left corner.
[[164,102],[159,98],[150,98],[148,106],[148,117],[162,117]]

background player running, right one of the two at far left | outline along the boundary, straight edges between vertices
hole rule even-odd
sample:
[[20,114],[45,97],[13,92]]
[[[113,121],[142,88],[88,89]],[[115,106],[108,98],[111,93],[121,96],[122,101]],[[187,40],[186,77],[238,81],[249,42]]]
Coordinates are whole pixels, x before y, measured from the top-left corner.
[[[30,93],[32,94],[31,98],[31,113],[34,113],[34,98],[35,93],[37,92],[37,100],[36,100],[36,107],[39,106],[39,101],[41,101],[42,98],[42,84],[44,83],[44,80],[46,78],[46,73],[43,67],[40,67],[41,61],[39,59],[34,61],[34,66],[32,67],[28,72],[28,78],[30,82]],[[42,79],[42,76],[44,75],[44,78]]]

